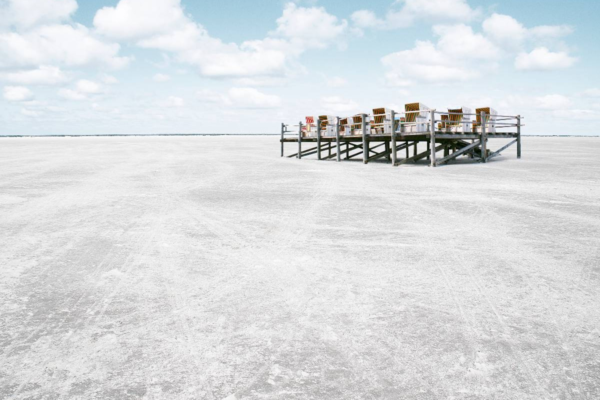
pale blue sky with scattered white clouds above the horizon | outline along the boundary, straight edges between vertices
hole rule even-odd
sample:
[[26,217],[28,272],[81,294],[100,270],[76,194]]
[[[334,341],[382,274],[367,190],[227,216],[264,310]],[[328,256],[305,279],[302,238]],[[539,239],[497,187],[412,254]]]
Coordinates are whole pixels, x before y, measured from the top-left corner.
[[278,133],[420,102],[600,134],[597,0],[0,0],[0,135]]

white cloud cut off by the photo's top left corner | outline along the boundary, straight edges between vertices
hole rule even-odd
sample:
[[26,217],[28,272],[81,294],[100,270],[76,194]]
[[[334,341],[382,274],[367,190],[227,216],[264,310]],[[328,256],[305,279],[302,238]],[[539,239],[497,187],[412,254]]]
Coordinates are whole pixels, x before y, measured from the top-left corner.
[[76,10],[76,0],[5,0],[0,2],[0,26],[26,29],[61,22]]

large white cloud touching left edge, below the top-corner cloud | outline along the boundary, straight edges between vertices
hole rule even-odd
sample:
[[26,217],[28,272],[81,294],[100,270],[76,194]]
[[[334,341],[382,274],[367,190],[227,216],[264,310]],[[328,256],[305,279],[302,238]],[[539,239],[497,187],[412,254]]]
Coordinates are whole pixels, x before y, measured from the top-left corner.
[[0,67],[102,64],[121,68],[129,59],[119,57],[118,52],[119,44],[98,40],[80,24],[44,25],[22,34],[0,34]]

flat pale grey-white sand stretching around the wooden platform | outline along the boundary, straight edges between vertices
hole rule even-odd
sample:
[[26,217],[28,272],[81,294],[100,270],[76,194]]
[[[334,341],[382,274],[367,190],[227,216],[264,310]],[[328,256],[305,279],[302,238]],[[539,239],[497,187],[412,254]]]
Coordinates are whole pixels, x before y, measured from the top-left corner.
[[0,139],[0,398],[600,398],[598,154]]

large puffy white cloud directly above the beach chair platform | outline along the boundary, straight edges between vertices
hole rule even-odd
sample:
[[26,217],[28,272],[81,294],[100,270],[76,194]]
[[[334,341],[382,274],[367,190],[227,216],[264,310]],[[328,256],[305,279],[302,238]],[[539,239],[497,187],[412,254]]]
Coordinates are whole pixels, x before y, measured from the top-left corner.
[[[437,44],[416,41],[415,47],[383,56],[388,70],[386,79],[395,86],[409,86],[415,80],[424,82],[457,82],[481,75],[494,68],[500,51],[487,38],[475,34],[470,26],[436,25]],[[478,61],[477,67],[473,67]]]

